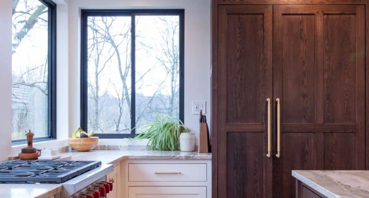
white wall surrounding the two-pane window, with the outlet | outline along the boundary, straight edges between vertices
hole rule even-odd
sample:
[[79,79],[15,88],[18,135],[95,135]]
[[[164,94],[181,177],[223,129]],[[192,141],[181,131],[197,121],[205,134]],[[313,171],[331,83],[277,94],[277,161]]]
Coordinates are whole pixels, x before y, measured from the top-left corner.
[[[185,125],[199,132],[192,100],[207,101],[210,123],[211,0],[70,0],[69,3],[69,132],[80,125],[80,9],[185,9]],[[111,143],[119,140],[110,141]],[[107,141],[104,141],[107,143]]]

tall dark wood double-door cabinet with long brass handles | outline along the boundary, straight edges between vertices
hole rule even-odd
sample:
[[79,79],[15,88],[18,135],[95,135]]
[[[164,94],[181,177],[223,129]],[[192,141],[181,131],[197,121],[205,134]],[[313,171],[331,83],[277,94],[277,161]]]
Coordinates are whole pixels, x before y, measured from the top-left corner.
[[366,4],[236,1],[212,3],[213,198],[295,198],[293,169],[365,169]]

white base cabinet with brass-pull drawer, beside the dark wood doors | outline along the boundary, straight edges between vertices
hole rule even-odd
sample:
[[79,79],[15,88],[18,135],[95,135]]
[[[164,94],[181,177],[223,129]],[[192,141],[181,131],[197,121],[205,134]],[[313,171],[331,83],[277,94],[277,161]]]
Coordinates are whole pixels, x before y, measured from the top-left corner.
[[211,198],[211,159],[127,159],[121,198]]

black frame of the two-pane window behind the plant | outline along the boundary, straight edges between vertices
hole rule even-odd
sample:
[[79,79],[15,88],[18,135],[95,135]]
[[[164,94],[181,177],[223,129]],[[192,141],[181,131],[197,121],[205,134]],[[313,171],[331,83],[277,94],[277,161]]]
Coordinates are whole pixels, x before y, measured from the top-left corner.
[[87,58],[87,18],[89,16],[131,16],[131,133],[94,134],[105,139],[134,138],[136,136],[136,93],[135,93],[135,16],[179,16],[179,119],[184,123],[184,9],[81,9],[81,127],[88,126],[88,58]]

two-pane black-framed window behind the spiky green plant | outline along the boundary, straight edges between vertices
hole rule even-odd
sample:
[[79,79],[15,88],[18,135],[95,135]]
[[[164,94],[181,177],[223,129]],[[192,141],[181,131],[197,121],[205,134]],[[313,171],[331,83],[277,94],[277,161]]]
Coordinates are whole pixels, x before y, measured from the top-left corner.
[[184,10],[82,10],[81,126],[128,138],[183,121]]

